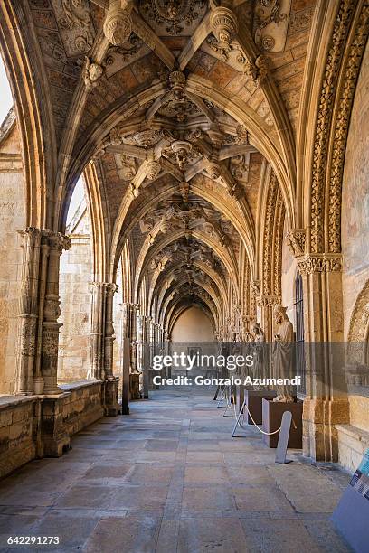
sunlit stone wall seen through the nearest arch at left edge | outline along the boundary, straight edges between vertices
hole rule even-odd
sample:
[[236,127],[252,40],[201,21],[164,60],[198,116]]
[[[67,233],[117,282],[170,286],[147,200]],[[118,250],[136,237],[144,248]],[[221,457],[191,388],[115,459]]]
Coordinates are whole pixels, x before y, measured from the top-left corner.
[[14,392],[25,227],[24,175],[15,120],[0,127],[0,394]]

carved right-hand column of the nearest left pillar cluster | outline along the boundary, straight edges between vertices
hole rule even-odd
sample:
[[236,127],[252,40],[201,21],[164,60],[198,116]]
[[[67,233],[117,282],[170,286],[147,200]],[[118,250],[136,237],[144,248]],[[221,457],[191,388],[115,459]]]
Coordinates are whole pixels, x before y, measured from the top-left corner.
[[57,384],[59,331],[62,323],[58,322],[61,315],[59,297],[59,265],[63,249],[71,248],[71,240],[60,232],[49,235],[49,263],[47,267],[47,283],[45,303],[43,307],[43,348],[41,369],[44,381],[44,394],[59,394],[61,389]]

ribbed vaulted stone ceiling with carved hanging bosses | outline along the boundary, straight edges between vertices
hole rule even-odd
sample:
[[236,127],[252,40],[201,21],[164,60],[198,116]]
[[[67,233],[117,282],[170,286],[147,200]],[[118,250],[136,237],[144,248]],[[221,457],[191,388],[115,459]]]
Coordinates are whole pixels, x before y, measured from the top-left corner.
[[29,7],[50,92],[56,218],[65,223],[73,186],[90,167],[110,274],[129,241],[133,300],[145,282],[163,318],[195,302],[215,321],[230,286],[240,301],[268,167],[294,216],[315,0]]

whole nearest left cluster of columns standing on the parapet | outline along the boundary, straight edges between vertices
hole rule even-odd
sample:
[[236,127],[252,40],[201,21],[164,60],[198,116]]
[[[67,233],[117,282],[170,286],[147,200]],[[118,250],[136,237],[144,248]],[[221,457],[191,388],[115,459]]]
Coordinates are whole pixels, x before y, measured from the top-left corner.
[[61,323],[59,266],[71,241],[60,232],[29,227],[23,237],[17,392],[59,394],[58,346]]

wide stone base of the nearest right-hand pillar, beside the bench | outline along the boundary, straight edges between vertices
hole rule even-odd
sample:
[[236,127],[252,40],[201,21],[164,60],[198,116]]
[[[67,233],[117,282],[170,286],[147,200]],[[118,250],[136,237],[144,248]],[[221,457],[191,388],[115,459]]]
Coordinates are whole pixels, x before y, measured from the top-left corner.
[[347,398],[305,399],[302,415],[303,454],[315,461],[337,463],[336,425],[350,422]]

